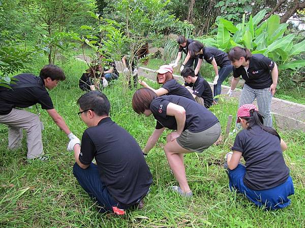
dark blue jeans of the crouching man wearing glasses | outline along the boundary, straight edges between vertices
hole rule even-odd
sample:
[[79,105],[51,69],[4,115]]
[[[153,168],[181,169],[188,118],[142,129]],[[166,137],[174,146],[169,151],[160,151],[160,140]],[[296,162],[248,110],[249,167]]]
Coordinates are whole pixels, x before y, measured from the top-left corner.
[[108,192],[105,183],[101,180],[97,165],[91,163],[88,168],[82,169],[75,163],[73,166],[73,174],[90,198],[97,201],[102,207],[100,212],[113,211],[113,206],[120,209],[127,209],[115,201]]

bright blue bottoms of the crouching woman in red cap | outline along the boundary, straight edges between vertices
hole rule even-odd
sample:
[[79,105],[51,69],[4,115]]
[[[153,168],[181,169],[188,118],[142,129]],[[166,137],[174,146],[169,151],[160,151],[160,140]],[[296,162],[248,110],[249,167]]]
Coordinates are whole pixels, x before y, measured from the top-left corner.
[[241,164],[238,164],[233,170],[228,169],[231,191],[236,189],[238,193],[245,195],[257,206],[264,207],[266,210],[281,209],[290,205],[291,201],[288,199],[288,196],[294,194],[294,187],[290,176],[279,186],[257,191],[243,183],[243,176],[245,174],[246,167]]

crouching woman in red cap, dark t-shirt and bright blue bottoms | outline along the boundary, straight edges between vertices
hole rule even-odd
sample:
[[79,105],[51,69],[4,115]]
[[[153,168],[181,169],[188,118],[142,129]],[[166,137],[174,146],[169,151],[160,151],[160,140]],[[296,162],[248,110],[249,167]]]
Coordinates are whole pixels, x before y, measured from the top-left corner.
[[[230,189],[266,210],[287,207],[294,187],[283,157],[286,143],[275,129],[263,125],[263,117],[253,104],[238,108],[237,123],[243,130],[236,135],[233,153],[226,155],[225,164]],[[241,157],[246,166],[239,163]]]

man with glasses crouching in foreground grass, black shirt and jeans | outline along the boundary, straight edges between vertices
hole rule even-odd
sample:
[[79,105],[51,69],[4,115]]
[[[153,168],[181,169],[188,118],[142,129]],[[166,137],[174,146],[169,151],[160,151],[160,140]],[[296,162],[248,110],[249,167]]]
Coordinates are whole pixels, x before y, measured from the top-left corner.
[[[141,207],[152,178],[140,146],[111,120],[110,103],[102,92],[90,91],[77,103],[78,115],[88,126],[81,145],[77,139],[68,145],[68,150],[74,150],[77,181],[102,207],[100,212],[124,214],[131,206]],[[92,163],[94,158],[97,165]]]

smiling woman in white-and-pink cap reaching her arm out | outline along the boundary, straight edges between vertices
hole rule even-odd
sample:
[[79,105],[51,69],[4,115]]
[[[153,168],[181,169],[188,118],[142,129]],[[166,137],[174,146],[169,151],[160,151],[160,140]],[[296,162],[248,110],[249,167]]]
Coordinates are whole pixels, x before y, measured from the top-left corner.
[[156,71],[157,72],[157,83],[162,84],[162,87],[155,90],[151,88],[142,80],[139,80],[141,86],[153,90],[158,96],[162,95],[177,95],[189,98],[195,101],[193,95],[187,88],[180,85],[173,77],[173,68],[170,65],[162,65]]

